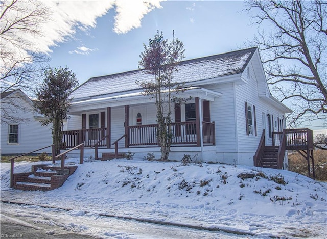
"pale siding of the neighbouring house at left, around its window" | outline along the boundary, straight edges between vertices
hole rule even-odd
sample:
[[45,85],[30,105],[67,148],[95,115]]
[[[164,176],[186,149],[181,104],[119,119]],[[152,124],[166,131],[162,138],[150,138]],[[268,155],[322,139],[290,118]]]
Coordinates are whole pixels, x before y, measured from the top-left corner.
[[[2,101],[3,100],[6,100],[6,98],[3,98]],[[25,109],[25,111],[17,109],[18,112],[15,115],[29,120],[18,123],[18,144],[8,143],[9,125],[3,122],[1,125],[1,153],[24,154],[51,145],[52,133],[50,127],[42,126],[41,123],[34,118],[32,106],[23,98],[17,97],[16,103],[21,105],[22,109]],[[51,147],[36,153],[41,152],[51,153]]]

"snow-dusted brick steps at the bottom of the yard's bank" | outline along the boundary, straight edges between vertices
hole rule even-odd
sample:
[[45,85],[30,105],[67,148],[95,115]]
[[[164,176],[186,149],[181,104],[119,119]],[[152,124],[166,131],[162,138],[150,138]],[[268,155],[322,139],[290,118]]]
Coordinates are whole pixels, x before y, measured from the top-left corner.
[[49,191],[62,186],[72,175],[77,166],[50,167],[48,165],[33,165],[31,172],[14,174],[14,189],[29,191]]

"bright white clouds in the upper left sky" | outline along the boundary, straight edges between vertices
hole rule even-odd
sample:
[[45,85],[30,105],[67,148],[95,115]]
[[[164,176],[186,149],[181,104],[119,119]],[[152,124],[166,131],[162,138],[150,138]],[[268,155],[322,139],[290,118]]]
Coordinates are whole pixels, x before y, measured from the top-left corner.
[[[16,4],[29,9],[34,7],[31,3],[41,2],[52,11],[50,19],[38,26],[42,36],[34,36],[21,31],[11,33],[11,36],[19,36],[20,39],[23,39],[22,42],[28,42],[27,48],[17,49],[11,42],[5,40],[0,41],[0,46],[6,47],[6,51],[10,52],[12,56],[17,55],[17,59],[28,57],[28,52],[31,50],[44,53],[51,52],[52,46],[67,41],[69,38],[74,38],[77,28],[94,28],[97,18],[105,15],[110,9],[116,11],[112,31],[118,34],[127,33],[134,28],[139,28],[142,18],[151,10],[161,8],[161,1],[164,0],[20,0]],[[9,4],[10,1],[4,1],[4,5]],[[16,13],[7,11],[6,14],[12,14],[14,17]],[[2,19],[0,26],[3,27],[5,24],[6,21]],[[109,28],[108,31],[110,31]],[[72,53],[88,54],[90,50],[80,48],[72,51]],[[2,62],[0,68],[5,67],[5,65],[6,63]]]

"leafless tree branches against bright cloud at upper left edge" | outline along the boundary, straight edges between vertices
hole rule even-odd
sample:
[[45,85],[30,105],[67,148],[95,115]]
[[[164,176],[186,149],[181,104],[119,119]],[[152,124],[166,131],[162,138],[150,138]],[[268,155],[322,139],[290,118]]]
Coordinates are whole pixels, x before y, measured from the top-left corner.
[[[32,95],[48,68],[48,57],[34,42],[51,12],[37,0],[0,1],[0,92],[20,89]],[[12,104],[10,103],[12,102]],[[2,110],[18,107],[2,105]],[[11,105],[10,105],[11,104]],[[10,114],[10,112],[7,112]],[[4,112],[4,115],[8,115]],[[16,119],[18,120],[18,119]]]

